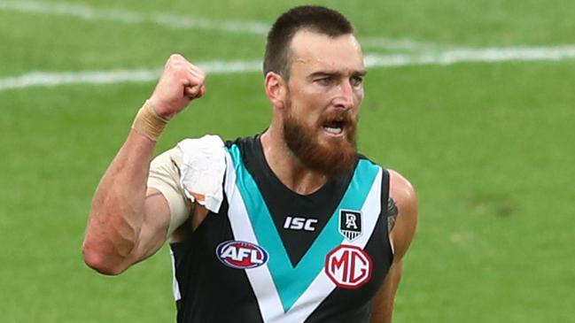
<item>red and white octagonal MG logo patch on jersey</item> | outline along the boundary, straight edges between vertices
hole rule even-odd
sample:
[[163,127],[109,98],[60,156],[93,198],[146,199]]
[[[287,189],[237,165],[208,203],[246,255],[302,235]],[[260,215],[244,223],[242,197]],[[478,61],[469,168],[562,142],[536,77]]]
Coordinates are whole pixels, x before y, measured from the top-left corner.
[[325,273],[338,287],[359,288],[371,279],[371,258],[360,247],[339,245],[325,257]]

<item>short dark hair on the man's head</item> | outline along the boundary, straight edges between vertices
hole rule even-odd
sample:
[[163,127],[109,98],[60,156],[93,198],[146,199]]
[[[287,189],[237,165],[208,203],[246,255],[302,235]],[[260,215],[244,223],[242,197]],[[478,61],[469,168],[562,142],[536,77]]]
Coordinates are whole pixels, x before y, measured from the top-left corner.
[[274,72],[290,78],[290,44],[299,30],[328,35],[332,38],[354,33],[349,20],[335,10],[319,5],[302,5],[284,12],[268,33],[263,73]]

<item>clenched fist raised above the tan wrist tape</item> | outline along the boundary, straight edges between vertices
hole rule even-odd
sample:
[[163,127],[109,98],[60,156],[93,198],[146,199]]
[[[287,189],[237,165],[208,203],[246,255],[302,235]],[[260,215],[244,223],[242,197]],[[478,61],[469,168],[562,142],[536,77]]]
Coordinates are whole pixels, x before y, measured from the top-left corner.
[[206,73],[180,54],[167,59],[164,72],[150,97],[150,104],[160,117],[172,118],[190,101],[206,93]]

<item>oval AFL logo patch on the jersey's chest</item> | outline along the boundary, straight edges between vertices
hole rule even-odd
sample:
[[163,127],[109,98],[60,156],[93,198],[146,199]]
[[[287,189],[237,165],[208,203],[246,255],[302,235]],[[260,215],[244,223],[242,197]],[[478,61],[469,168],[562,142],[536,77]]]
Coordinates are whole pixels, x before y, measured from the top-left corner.
[[223,265],[236,269],[259,267],[268,262],[268,251],[257,244],[243,241],[221,242],[215,249],[215,256]]

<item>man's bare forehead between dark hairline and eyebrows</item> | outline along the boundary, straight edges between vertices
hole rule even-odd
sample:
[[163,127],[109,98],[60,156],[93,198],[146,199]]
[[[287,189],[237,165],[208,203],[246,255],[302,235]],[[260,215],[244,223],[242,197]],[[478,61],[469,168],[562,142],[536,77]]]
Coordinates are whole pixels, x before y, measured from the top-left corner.
[[330,37],[301,30],[291,40],[291,71],[354,73],[364,70],[360,43],[354,35]]

